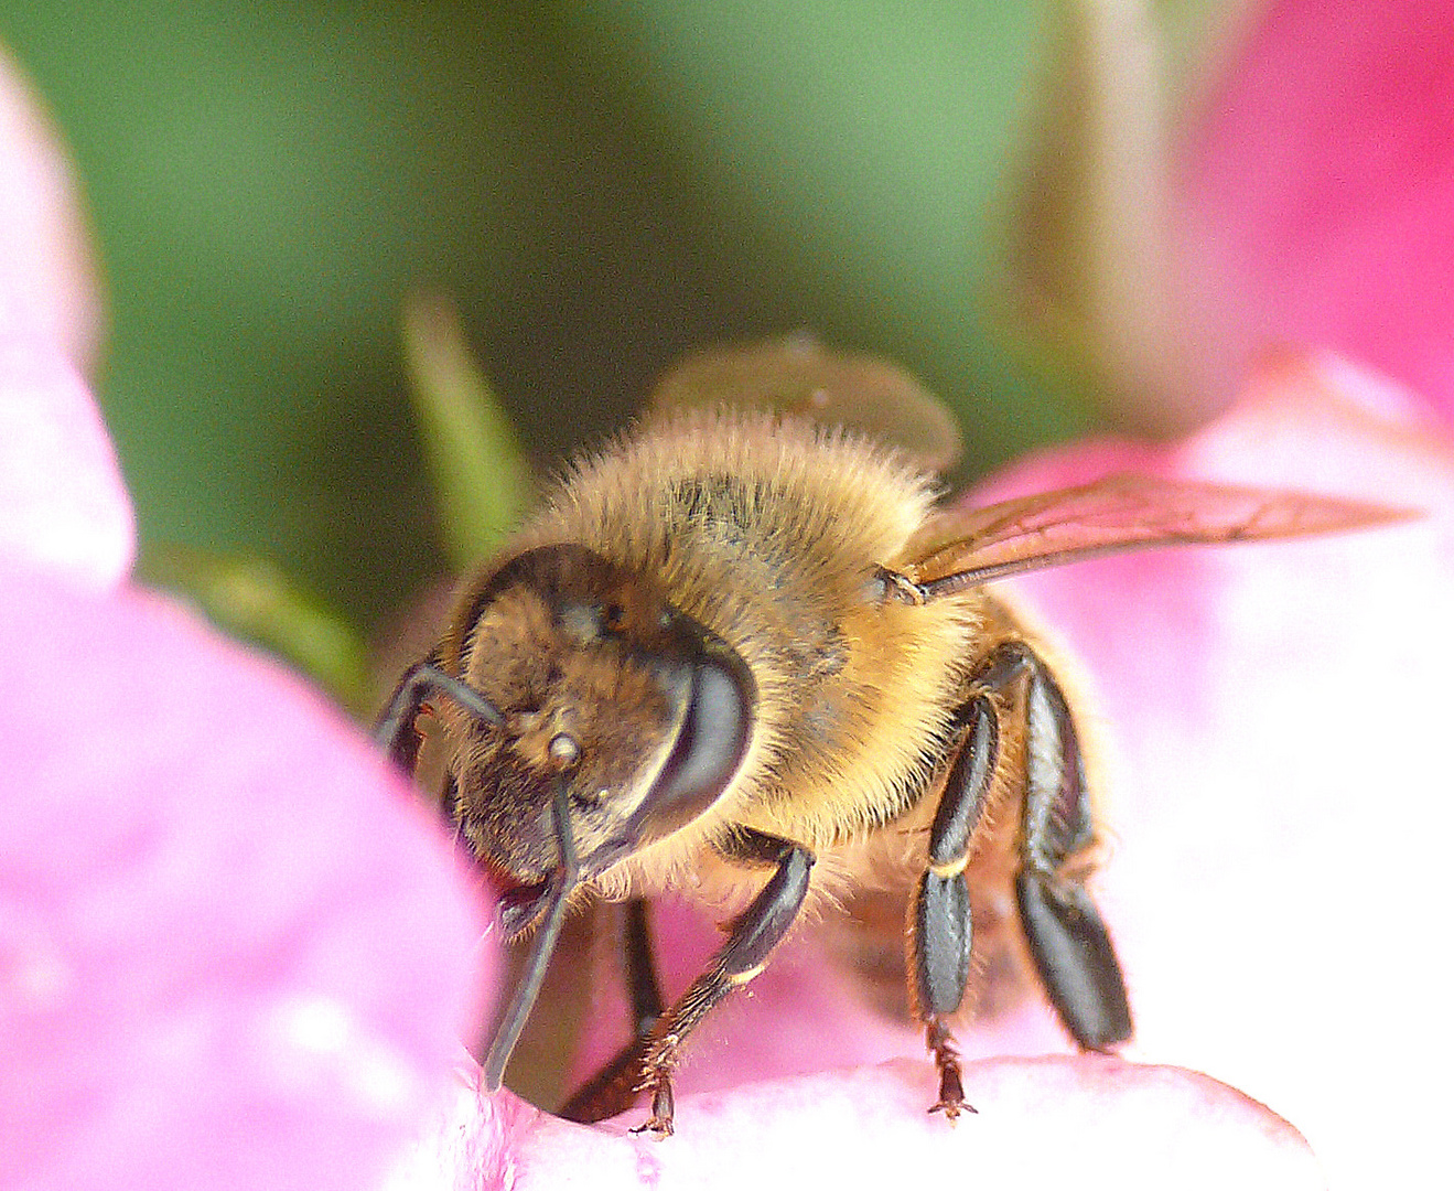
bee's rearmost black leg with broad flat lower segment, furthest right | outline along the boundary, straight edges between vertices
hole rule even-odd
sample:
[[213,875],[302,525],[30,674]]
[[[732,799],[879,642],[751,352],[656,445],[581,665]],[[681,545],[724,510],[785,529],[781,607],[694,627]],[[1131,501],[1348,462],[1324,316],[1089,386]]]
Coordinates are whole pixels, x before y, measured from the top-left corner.
[[1024,643],[996,650],[986,685],[1005,683],[1016,670],[1025,701],[1019,921],[1070,1037],[1086,1050],[1106,1050],[1131,1037],[1131,1009],[1111,935],[1073,865],[1095,842],[1075,721],[1060,685]]

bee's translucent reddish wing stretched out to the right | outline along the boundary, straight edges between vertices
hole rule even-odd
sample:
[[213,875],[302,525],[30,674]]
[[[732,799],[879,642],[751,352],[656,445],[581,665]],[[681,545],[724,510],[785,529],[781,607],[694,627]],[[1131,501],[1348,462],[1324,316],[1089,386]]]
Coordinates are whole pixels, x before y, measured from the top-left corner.
[[1416,515],[1298,492],[1108,476],[939,513],[910,540],[903,573],[933,598],[1122,550],[1335,534]]

